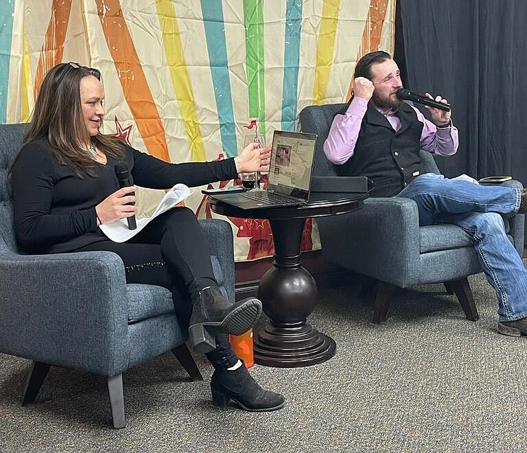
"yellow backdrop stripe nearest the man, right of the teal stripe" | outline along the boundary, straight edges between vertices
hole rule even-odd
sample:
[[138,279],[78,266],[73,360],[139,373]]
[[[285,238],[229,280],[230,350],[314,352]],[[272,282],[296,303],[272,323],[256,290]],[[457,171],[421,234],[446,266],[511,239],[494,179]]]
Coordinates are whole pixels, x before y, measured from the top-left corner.
[[313,86],[314,104],[323,104],[326,99],[329,72],[333,63],[339,7],[340,0],[324,0],[316,47],[316,69]]

